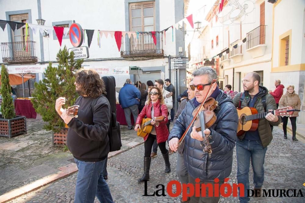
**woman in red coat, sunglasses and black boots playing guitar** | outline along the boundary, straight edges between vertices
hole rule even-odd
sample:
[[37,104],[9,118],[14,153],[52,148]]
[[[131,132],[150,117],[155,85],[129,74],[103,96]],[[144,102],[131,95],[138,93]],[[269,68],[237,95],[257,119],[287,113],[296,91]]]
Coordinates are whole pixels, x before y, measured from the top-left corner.
[[141,113],[138,115],[138,119],[135,125],[135,131],[138,131],[142,119],[146,116],[147,118],[154,118],[158,116],[164,116],[164,120],[161,122],[151,121],[153,125],[152,131],[144,137],[144,174],[142,178],[138,180],[139,183],[144,180],[149,180],[149,168],[150,168],[150,154],[152,152],[152,145],[157,140],[159,149],[163,155],[165,161],[165,173],[170,173],[170,160],[168,157],[168,150],[165,148],[165,144],[169,135],[167,130],[167,107],[164,104],[162,92],[159,88],[153,87],[150,90],[147,105],[144,106]]

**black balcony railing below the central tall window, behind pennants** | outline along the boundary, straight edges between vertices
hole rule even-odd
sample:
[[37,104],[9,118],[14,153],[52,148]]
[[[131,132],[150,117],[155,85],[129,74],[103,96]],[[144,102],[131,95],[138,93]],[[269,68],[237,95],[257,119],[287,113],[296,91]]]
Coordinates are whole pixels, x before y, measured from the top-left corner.
[[139,33],[136,40],[133,35],[131,35],[130,39],[127,35],[123,36],[121,57],[163,56],[163,33],[156,32],[156,42],[155,45],[152,36],[148,32]]

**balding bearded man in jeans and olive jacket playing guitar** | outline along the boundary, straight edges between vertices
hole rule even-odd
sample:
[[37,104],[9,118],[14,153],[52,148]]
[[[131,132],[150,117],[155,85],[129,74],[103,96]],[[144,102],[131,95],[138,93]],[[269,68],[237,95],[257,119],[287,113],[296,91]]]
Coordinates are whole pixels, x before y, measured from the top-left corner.
[[[260,75],[256,72],[247,73],[242,81],[244,92],[238,93],[233,103],[235,107],[254,107],[258,113],[276,109],[276,103],[268,89],[260,86]],[[244,197],[240,202],[248,202],[247,190],[249,190],[249,167],[250,159],[253,168],[254,195],[260,197],[261,189],[264,182],[264,161],[267,146],[272,140],[272,126],[281,123],[281,117],[268,113],[266,119],[260,119],[256,131],[247,131],[239,136],[236,140],[236,157],[237,157],[237,182],[245,186]]]

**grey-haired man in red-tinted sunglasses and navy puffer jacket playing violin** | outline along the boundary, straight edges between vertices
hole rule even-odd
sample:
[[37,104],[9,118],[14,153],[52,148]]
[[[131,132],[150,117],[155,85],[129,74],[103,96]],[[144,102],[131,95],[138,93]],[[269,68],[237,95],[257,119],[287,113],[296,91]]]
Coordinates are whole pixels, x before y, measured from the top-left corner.
[[[232,99],[218,88],[216,82],[213,83],[214,85],[212,84],[212,90],[209,93],[212,81],[217,79],[217,74],[213,68],[202,67],[194,71],[192,75],[194,79],[190,88],[195,91],[195,98],[186,104],[185,109],[170,131],[169,146],[174,151],[178,149],[178,141],[191,123],[194,109],[203,102],[207,94],[208,97],[218,101],[218,107],[214,110],[217,120],[204,131],[206,137],[211,135],[209,141],[213,153],[209,155],[207,152],[203,152],[204,145],[201,146],[203,144],[203,133],[202,131],[196,131],[196,128],[200,126],[192,125],[185,135],[183,154],[184,163],[188,170],[189,183],[198,183],[195,182],[195,179],[199,178],[200,184],[210,183],[213,184],[214,188],[216,187],[216,185],[214,186],[214,179],[219,178],[220,187],[224,183],[224,178],[227,178],[232,170],[233,148],[238,125],[237,110]],[[206,189],[206,197],[193,196],[191,202],[218,202],[219,199],[220,197],[208,197],[208,189]]]

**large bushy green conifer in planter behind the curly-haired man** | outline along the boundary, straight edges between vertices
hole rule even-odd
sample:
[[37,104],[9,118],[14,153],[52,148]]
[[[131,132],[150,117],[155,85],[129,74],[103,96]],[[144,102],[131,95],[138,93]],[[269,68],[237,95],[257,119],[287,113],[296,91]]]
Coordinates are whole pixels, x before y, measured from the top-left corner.
[[[73,106],[78,95],[75,91],[74,73],[81,68],[84,60],[74,61],[74,53],[69,54],[66,46],[59,50],[56,59],[58,67],[52,67],[49,62],[45,70],[45,78],[34,84],[33,107],[41,114],[42,120],[48,122],[44,129],[54,132],[60,131],[65,124],[55,110],[55,102],[58,97],[68,99],[63,108]],[[58,128],[59,127],[59,128]]]

